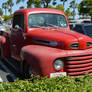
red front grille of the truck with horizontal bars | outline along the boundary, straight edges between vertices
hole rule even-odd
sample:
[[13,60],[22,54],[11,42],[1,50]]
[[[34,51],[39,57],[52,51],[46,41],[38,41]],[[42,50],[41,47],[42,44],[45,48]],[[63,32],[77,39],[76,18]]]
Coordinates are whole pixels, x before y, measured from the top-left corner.
[[92,55],[73,56],[70,60],[66,60],[65,71],[70,76],[92,73]]

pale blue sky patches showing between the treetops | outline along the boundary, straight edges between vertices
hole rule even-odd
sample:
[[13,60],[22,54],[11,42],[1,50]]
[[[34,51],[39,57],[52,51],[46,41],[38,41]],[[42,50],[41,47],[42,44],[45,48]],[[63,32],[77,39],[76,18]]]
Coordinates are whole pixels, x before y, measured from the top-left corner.
[[[0,3],[0,8],[2,8],[2,3],[6,2],[7,0],[0,0],[0,1],[1,1],[1,3]],[[27,7],[27,4],[26,4],[27,1],[28,1],[28,0],[24,0],[23,3],[21,2],[21,3],[19,3],[19,4],[16,5],[16,0],[13,0],[13,2],[14,2],[14,6],[13,6],[13,9],[12,9],[13,13],[14,13],[16,10],[18,10],[20,6],[25,6],[25,7]],[[69,3],[70,3],[71,1],[72,1],[72,0],[68,0],[68,1],[65,3],[65,9],[69,8]],[[82,1],[82,0],[76,0],[76,3],[79,4],[81,1]],[[62,3],[60,3],[60,0],[57,0],[57,4],[62,4]],[[4,11],[4,9],[3,9],[3,11]],[[77,13],[77,15],[75,16],[75,18],[78,18],[78,9],[76,9],[76,13]],[[5,13],[4,13],[4,14],[5,14]],[[9,15],[8,12],[7,12],[7,15]]]

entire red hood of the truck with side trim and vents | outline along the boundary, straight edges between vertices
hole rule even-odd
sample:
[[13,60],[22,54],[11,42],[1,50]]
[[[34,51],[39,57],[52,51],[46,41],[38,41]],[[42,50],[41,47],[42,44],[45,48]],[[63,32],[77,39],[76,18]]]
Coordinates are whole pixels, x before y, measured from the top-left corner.
[[[32,41],[38,44],[52,45],[62,49],[86,49],[91,47],[92,39],[83,34],[53,28],[37,28],[28,31]],[[87,44],[90,43],[89,46]],[[73,46],[73,47],[72,47]]]

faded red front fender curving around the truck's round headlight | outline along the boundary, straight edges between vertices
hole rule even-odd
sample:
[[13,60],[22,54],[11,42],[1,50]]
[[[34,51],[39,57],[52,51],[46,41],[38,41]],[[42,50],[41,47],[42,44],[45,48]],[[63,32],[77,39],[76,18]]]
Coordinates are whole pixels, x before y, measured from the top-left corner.
[[30,64],[30,67],[37,74],[49,77],[50,73],[64,71],[64,68],[60,71],[56,71],[53,67],[53,62],[57,58],[62,57],[62,55],[60,55],[61,52],[62,50],[56,48],[29,45],[22,48],[21,58]]

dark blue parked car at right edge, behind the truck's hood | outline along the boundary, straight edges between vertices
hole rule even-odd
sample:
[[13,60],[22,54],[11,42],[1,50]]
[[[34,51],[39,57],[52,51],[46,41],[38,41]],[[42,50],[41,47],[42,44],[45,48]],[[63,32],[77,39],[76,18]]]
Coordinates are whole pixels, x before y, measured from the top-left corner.
[[92,37],[92,24],[74,24],[73,27],[71,28],[73,31],[85,34],[87,36]]

